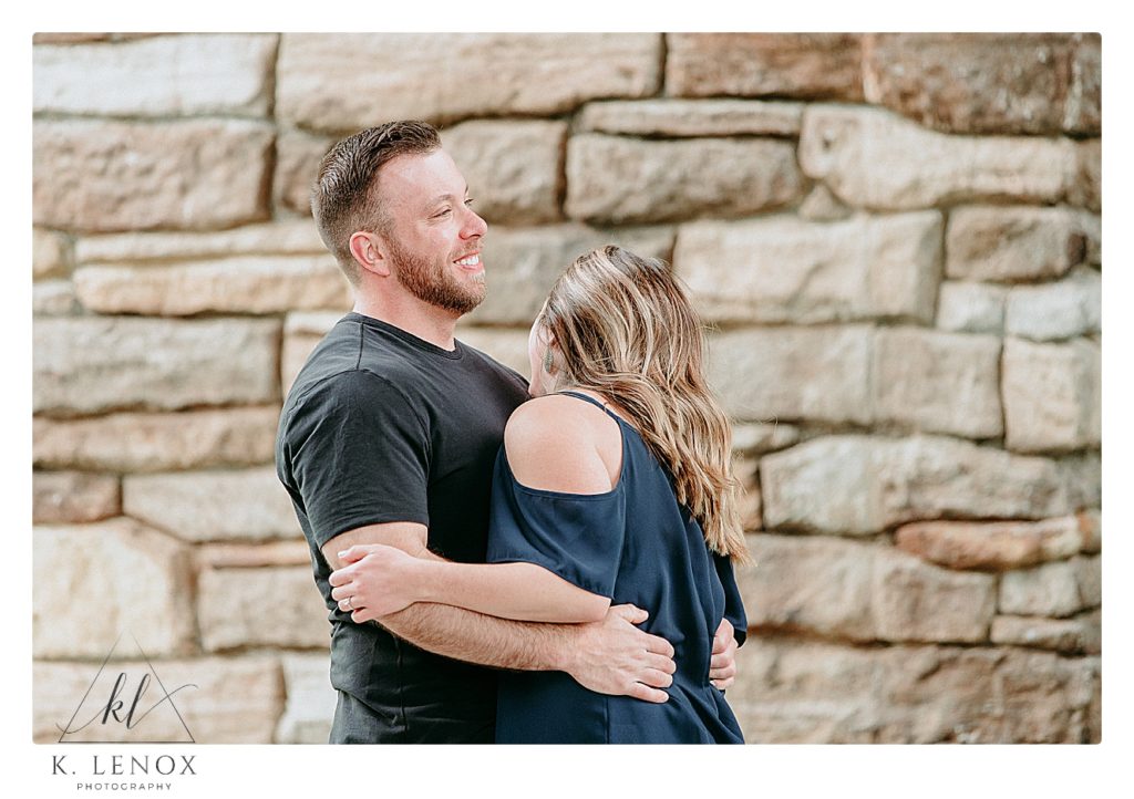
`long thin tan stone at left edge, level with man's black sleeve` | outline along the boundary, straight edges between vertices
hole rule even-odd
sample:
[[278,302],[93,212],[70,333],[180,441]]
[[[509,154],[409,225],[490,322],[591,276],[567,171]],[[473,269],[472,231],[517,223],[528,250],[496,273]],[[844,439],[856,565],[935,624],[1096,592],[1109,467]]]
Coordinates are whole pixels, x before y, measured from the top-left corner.
[[33,462],[42,468],[161,471],[245,466],[272,459],[279,407],[111,414],[32,422]]

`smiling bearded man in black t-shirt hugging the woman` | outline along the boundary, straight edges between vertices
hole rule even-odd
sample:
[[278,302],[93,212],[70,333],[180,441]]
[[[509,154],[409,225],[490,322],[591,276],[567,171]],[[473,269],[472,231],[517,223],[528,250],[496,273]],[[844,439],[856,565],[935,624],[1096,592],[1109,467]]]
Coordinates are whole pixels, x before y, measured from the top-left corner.
[[[437,130],[416,121],[339,142],[314,188],[315,222],[355,305],[296,377],[276,461],[331,611],[331,742],[492,742],[496,680],[483,666],[565,671],[649,702],[665,702],[671,681],[672,647],[634,627],[648,613],[628,605],[601,622],[539,624],[428,603],[375,619],[331,598],[329,576],[350,547],[352,560],[387,544],[484,561],[492,462],[527,390],[454,339],[485,292],[486,224],[471,203]],[[714,663],[726,683],[730,632]]]

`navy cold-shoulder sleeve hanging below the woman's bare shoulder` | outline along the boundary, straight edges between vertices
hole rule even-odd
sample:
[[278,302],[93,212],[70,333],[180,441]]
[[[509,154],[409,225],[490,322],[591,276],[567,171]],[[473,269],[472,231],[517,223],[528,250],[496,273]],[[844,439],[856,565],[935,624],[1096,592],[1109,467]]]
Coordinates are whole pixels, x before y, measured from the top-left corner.
[[612,597],[626,536],[625,494],[566,494],[528,488],[506,468],[492,479],[488,561],[542,566],[572,585]]

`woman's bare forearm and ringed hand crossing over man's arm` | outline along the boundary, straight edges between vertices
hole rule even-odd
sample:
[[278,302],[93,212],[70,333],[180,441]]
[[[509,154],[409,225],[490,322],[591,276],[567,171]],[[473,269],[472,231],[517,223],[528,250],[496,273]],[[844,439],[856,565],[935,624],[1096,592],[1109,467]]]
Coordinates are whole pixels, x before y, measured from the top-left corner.
[[355,564],[332,575],[332,585],[349,579],[333,588],[331,597],[352,597],[352,606],[379,615],[433,602],[501,619],[584,622],[604,618],[610,607],[609,597],[534,563],[454,563],[414,558],[381,544],[352,547],[340,556]]

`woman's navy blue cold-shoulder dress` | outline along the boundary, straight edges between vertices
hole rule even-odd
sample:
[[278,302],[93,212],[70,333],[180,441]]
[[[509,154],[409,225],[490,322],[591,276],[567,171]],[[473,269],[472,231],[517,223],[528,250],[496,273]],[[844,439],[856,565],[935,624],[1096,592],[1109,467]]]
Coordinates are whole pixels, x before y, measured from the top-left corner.
[[[574,392],[572,397],[599,407]],[[623,439],[617,485],[568,494],[521,485],[497,454],[489,562],[536,563],[579,588],[650,613],[640,629],[674,645],[677,672],[654,704],[583,688],[564,672],[501,672],[498,743],[743,743],[725,694],[709,682],[722,618],[743,643],[747,621],[731,563],[705,545],[669,473],[633,426],[603,408]]]

